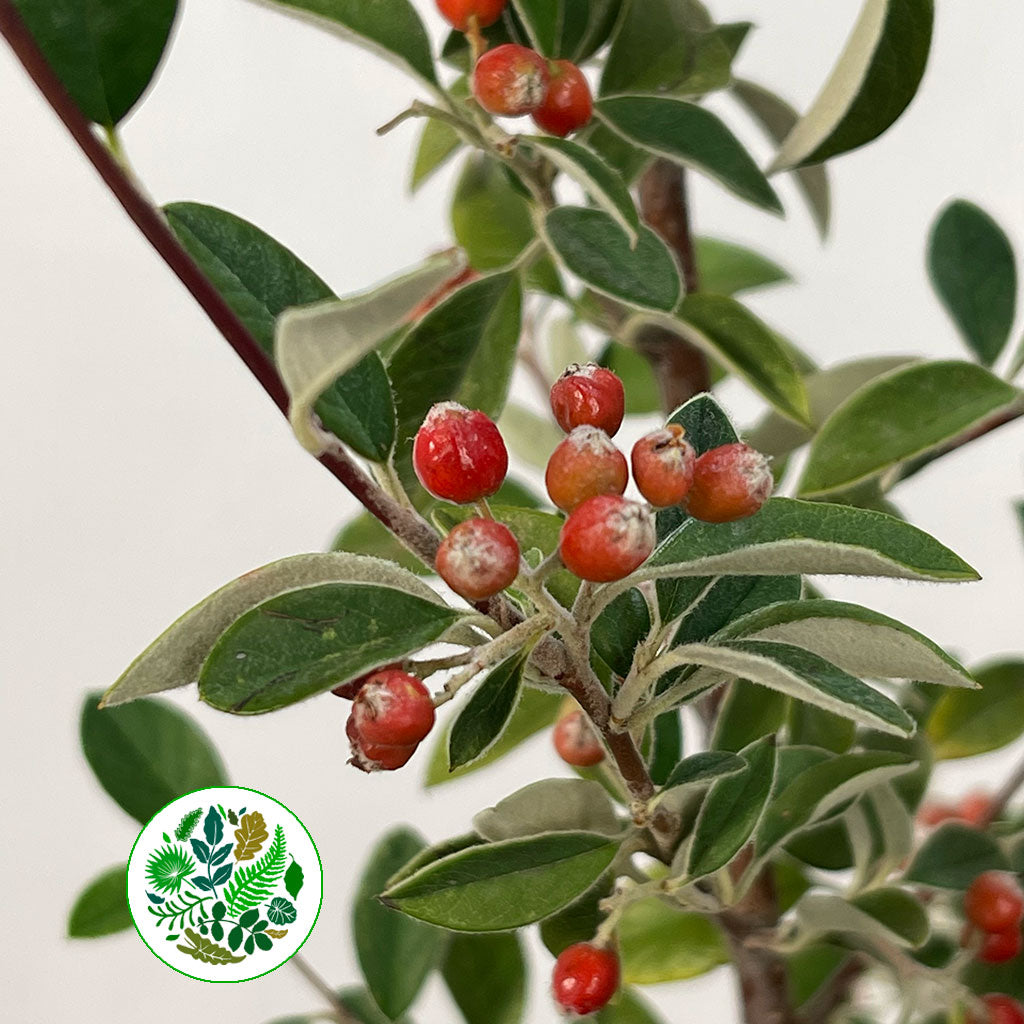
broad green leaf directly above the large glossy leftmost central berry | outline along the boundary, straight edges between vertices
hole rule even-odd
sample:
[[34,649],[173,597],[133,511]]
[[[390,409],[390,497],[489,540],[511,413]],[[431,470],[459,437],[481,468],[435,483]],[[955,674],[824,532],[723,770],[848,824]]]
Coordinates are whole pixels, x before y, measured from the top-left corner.
[[516,274],[490,274],[460,288],[409,333],[388,365],[401,451],[435,402],[461,401],[492,418],[500,415],[515,362],[521,304]]

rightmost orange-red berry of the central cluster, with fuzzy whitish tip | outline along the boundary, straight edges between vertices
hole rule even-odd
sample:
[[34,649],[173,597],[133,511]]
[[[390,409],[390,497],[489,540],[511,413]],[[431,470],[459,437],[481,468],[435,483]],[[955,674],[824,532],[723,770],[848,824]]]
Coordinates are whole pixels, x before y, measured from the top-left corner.
[[745,519],[768,500],[773,486],[768,460],[749,444],[705,452],[693,466],[686,511],[705,522]]

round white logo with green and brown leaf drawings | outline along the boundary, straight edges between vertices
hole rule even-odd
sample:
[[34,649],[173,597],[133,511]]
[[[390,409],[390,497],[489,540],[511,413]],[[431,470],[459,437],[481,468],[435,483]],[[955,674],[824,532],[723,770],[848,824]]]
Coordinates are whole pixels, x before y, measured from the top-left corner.
[[242,786],[197,790],[139,833],[128,860],[128,908],[142,941],[200,981],[250,981],[309,937],[324,877],[306,826]]

